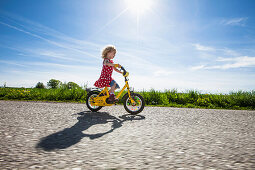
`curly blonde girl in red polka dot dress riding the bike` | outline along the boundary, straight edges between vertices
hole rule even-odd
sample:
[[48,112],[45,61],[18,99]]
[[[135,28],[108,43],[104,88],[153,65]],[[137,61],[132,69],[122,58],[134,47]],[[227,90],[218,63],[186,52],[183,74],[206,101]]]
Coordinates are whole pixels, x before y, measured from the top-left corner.
[[100,78],[95,82],[94,86],[98,88],[104,88],[105,86],[111,87],[109,90],[110,97],[109,101],[110,102],[115,102],[115,95],[114,91],[119,87],[119,85],[116,83],[116,81],[112,78],[112,71],[113,69],[121,73],[121,71],[117,70],[116,67],[121,67],[119,64],[113,64],[112,59],[115,57],[116,54],[116,48],[112,45],[106,46],[103,51],[102,51],[102,58],[104,59],[103,61],[103,68],[101,71]]

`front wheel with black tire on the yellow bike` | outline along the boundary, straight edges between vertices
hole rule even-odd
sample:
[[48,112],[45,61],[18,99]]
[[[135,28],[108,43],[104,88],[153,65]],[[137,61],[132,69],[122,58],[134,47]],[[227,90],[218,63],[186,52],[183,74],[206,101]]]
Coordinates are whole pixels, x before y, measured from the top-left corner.
[[137,102],[137,105],[132,106],[129,96],[127,95],[123,100],[124,108],[128,113],[136,115],[143,111],[145,102],[143,96],[141,96],[140,94],[132,93],[131,97]]

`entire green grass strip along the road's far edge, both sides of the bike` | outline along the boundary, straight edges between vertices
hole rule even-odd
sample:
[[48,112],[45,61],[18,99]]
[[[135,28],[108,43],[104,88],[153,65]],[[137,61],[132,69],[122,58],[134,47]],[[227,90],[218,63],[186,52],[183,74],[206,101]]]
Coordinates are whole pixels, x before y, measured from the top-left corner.
[[[116,92],[117,94],[118,92]],[[168,106],[210,109],[255,109],[255,91],[238,91],[229,94],[201,94],[190,90],[186,93],[177,90],[164,92],[151,89],[137,92],[141,94],[147,106]],[[125,94],[125,93],[123,93]],[[122,94],[122,96],[123,96]],[[0,100],[86,102],[85,88],[0,88]],[[122,97],[121,96],[121,97]],[[119,102],[121,104],[122,101]]]

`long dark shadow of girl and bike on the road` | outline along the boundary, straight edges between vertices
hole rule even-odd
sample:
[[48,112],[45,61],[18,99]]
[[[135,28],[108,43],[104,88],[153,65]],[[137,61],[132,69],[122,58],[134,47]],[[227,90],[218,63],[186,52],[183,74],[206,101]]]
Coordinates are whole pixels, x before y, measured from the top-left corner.
[[[71,128],[65,128],[59,132],[41,138],[40,142],[36,145],[36,148],[45,151],[65,149],[78,143],[84,137],[93,140],[111,133],[116,128],[121,127],[125,121],[145,119],[142,115],[122,115],[115,117],[107,112],[80,112],[77,113],[77,115],[79,115],[79,117],[77,118],[78,122],[75,125]],[[112,126],[111,129],[106,132],[96,134],[83,133],[84,130],[87,130],[93,125],[107,123],[112,123]]]

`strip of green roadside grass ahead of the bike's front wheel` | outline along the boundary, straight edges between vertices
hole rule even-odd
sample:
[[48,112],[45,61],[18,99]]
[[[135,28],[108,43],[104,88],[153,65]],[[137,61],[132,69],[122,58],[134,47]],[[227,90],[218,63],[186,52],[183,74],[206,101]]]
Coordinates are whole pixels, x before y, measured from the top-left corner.
[[211,109],[255,109],[255,91],[231,92],[229,94],[201,94],[190,90],[186,93],[178,93],[176,90],[164,92],[150,91],[139,92],[145,99],[146,105],[170,106],[188,108]]

